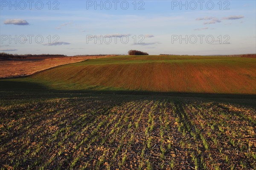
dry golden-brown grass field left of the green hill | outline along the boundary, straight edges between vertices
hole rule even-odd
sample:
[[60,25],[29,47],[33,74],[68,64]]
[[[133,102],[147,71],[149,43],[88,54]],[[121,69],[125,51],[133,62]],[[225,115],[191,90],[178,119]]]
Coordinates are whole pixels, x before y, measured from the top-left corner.
[[22,77],[32,75],[35,72],[60,66],[68,63],[76,63],[93,58],[105,58],[105,56],[86,57],[27,57],[26,59],[0,59],[0,78]]

